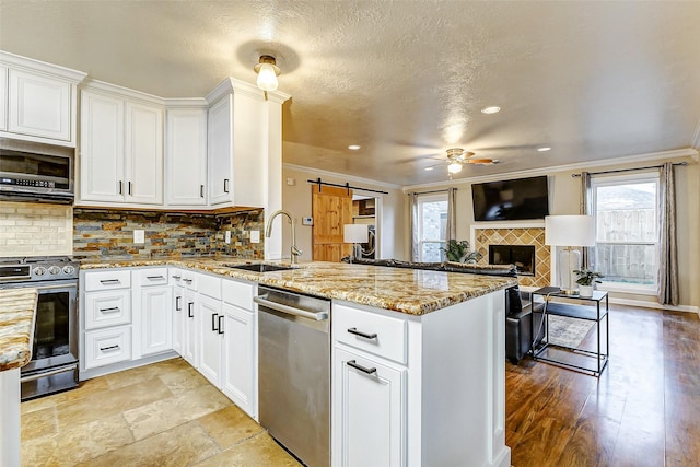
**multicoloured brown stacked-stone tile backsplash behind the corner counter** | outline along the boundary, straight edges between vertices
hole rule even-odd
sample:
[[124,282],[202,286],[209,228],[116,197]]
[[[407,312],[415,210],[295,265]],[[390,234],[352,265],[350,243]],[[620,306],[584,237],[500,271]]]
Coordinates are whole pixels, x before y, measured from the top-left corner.
[[[249,242],[250,230],[264,225],[264,211],[230,214],[172,213],[75,208],[73,254],[75,256],[172,257],[213,255],[262,258],[265,247]],[[145,241],[133,242],[133,231],[143,230]],[[231,231],[231,244],[225,243]]]

